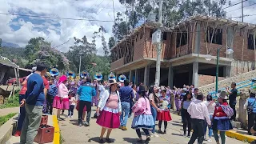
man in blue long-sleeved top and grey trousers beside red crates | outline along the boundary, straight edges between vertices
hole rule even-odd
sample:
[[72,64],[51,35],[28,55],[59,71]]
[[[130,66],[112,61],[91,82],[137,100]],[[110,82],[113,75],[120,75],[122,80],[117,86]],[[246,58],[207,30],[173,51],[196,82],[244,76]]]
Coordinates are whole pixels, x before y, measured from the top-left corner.
[[27,79],[25,99],[22,99],[21,107],[25,106],[26,117],[22,126],[20,138],[21,144],[34,143],[34,137],[38,134],[42,118],[42,107],[45,102],[44,84],[42,73],[46,72],[46,66],[38,64],[37,70]]

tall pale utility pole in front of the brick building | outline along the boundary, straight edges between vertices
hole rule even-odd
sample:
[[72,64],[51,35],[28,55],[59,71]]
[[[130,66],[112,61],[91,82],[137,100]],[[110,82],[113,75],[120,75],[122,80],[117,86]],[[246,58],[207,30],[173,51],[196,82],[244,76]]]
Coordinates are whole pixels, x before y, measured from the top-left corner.
[[[158,12],[158,31],[160,33],[160,38],[162,38],[162,32],[161,32],[161,27],[162,27],[162,0],[159,0],[159,12]],[[154,84],[159,86],[160,85],[160,65],[161,65],[161,53],[162,53],[162,39],[158,43],[158,55],[157,55],[157,62],[156,62],[156,70],[155,70],[155,82]]]

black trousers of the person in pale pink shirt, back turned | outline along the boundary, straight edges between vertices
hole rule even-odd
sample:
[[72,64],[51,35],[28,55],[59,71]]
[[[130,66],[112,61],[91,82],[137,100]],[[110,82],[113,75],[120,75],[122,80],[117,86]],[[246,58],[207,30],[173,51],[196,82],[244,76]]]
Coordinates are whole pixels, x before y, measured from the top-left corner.
[[202,144],[204,136],[204,119],[195,119],[192,118],[193,123],[193,134],[190,138],[189,144],[193,144],[194,141],[198,138],[198,144]]

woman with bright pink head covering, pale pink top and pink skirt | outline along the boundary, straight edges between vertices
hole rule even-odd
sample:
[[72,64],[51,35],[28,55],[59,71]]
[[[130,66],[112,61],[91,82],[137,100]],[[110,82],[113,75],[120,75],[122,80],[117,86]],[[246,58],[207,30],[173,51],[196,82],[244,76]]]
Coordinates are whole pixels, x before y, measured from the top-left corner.
[[53,107],[57,109],[57,118],[60,119],[61,110],[70,109],[69,90],[66,87],[66,75],[62,75],[58,81],[58,94],[54,97]]

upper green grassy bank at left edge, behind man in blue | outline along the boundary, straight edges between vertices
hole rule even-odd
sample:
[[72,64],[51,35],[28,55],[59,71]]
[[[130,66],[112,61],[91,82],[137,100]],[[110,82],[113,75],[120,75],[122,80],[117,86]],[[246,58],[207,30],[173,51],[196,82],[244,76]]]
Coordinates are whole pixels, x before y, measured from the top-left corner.
[[18,107],[19,106],[18,93],[19,93],[19,90],[16,90],[14,96],[5,100],[5,103],[0,105],[0,109],[9,108],[9,107]]

